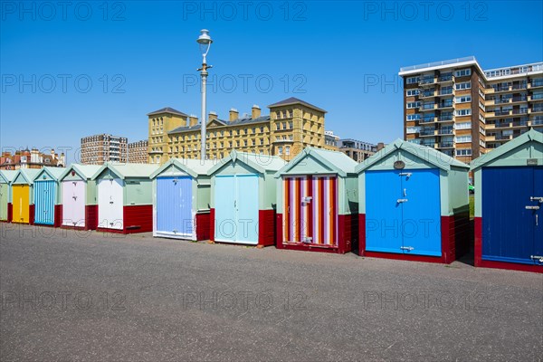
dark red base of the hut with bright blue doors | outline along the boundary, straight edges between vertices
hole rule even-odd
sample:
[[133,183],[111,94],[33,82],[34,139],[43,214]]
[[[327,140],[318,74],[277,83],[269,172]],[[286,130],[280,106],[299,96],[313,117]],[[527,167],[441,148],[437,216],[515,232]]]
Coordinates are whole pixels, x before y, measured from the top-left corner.
[[366,214],[358,215],[359,240],[358,255],[405,260],[410,262],[440,262],[450,264],[469,251],[471,243],[469,214],[456,214],[441,217],[442,256],[413,255],[394,252],[367,252],[366,250]]

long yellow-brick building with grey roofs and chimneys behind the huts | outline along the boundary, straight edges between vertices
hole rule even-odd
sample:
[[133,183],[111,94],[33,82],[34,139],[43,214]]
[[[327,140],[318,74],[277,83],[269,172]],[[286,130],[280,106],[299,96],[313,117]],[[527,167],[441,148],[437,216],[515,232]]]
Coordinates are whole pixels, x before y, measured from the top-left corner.
[[[206,157],[220,159],[232,149],[290,160],[303,148],[325,147],[326,110],[296,98],[259,106],[240,115],[231,109],[227,119],[209,112],[206,119]],[[148,161],[163,164],[169,158],[200,158],[200,127],[195,115],[165,108],[148,113]]]

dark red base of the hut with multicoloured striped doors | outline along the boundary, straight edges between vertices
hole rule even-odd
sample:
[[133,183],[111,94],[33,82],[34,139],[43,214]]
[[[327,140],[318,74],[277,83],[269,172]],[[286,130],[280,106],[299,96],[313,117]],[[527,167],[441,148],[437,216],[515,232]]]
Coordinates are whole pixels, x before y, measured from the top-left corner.
[[319,246],[311,243],[284,243],[282,230],[282,214],[275,216],[275,247],[285,250],[303,252],[334,252],[344,254],[357,247],[358,220],[357,214],[338,215],[338,246]]

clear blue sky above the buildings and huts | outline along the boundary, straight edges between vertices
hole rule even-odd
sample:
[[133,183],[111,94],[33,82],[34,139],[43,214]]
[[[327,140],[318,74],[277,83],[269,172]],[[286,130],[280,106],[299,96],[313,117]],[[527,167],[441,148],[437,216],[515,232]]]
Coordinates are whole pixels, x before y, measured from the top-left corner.
[[326,129],[370,142],[403,136],[402,66],[543,60],[539,1],[1,4],[3,149],[147,138],[146,114],[167,106],[199,116],[202,28],[214,39],[208,110],[267,113],[294,96],[329,111]]

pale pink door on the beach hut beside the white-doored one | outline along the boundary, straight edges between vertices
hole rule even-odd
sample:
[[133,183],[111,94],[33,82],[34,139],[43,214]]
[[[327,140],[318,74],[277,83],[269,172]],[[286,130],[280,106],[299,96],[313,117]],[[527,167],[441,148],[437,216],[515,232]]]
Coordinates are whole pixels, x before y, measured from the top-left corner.
[[85,182],[62,181],[62,225],[85,226]]

